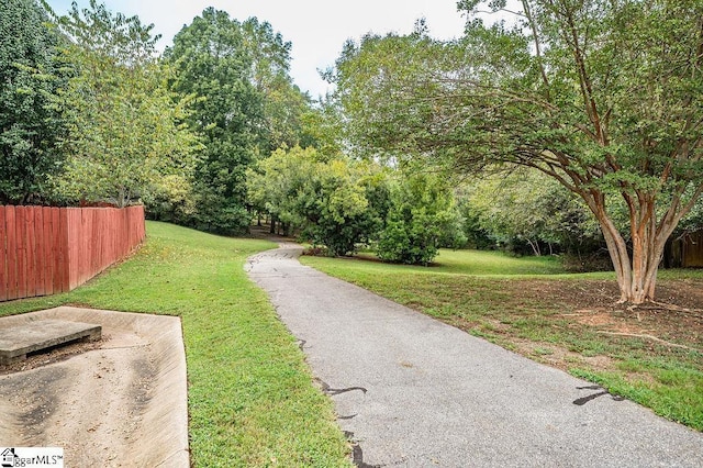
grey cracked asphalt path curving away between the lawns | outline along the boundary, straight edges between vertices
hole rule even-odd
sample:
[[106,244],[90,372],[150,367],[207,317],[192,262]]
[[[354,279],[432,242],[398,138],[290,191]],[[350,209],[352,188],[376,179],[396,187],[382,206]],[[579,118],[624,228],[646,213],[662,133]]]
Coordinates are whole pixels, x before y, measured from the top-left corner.
[[703,467],[703,434],[298,261],[249,258],[360,467]]

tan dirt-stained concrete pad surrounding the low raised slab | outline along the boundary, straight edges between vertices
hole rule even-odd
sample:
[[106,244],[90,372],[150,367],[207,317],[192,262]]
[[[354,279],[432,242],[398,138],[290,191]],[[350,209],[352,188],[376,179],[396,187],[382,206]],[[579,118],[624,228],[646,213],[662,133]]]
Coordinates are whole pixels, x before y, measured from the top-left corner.
[[0,319],[102,325],[102,339],[0,366],[0,446],[63,447],[67,467],[188,467],[180,320],[77,308]]

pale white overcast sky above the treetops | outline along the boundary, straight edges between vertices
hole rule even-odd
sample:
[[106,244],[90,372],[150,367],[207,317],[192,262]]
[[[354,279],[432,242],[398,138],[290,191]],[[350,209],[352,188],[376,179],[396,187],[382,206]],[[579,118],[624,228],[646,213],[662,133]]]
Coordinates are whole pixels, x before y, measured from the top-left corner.
[[[48,3],[63,14],[70,0]],[[88,3],[78,0],[79,7]],[[268,21],[292,43],[291,75],[313,98],[327,89],[317,69],[334,65],[347,38],[358,41],[368,32],[409,33],[420,18],[427,20],[429,33],[435,37],[457,37],[464,30],[456,0],[105,0],[104,3],[113,12],[136,14],[143,23],[154,23],[154,32],[163,36],[161,48],[171,44],[174,35],[207,7],[225,10],[241,21],[250,16]]]

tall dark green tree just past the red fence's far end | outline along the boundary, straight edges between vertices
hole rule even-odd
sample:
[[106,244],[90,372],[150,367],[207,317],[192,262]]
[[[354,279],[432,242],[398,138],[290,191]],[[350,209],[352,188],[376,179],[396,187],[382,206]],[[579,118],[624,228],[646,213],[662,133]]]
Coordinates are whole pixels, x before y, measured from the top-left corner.
[[188,121],[205,146],[194,175],[197,210],[187,223],[219,233],[248,230],[246,170],[279,146],[295,146],[310,99],[288,74],[291,44],[267,22],[205,9],[165,57],[171,88],[198,97]]

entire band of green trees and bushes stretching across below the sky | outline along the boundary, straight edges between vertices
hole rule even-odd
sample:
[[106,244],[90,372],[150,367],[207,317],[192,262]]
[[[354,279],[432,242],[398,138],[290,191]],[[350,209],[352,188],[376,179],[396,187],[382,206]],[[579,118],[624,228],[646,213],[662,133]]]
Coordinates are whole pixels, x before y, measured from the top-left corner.
[[[483,4],[488,3],[488,4]],[[237,234],[268,218],[333,255],[440,246],[610,256],[654,298],[703,219],[703,3],[460,1],[464,36],[344,45],[321,101],[266,22],[205,9],[159,56],[96,0],[0,11],[0,202],[143,202]],[[479,12],[512,22],[484,23]]]

